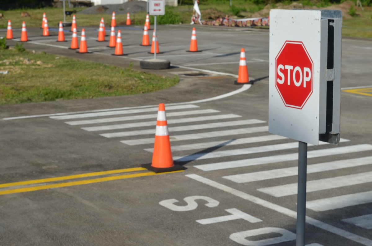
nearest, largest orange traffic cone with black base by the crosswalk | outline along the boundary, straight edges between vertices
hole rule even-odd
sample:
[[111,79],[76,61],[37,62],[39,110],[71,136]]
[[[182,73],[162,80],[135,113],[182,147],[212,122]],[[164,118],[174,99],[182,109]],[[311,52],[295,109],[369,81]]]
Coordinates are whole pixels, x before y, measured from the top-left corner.
[[144,164],[142,167],[155,173],[185,169],[183,166],[174,165],[173,162],[164,103],[160,103],[158,109],[153,160],[151,164]]

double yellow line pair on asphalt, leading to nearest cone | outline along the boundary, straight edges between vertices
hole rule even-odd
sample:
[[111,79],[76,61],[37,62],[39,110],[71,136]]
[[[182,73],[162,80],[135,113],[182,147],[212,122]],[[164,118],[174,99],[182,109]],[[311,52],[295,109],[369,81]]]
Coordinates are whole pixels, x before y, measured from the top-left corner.
[[[118,180],[118,179],[137,178],[137,177],[145,177],[145,176],[152,176],[152,175],[159,175],[159,174],[169,174],[169,173],[184,171],[184,170],[180,170],[180,171],[161,172],[161,173],[139,172],[139,171],[144,171],[144,170],[147,170],[147,169],[146,168],[127,168],[127,169],[117,169],[117,170],[110,170],[110,171],[103,171],[103,172],[91,172],[87,174],[68,175],[68,176],[55,177],[55,178],[43,178],[43,179],[34,179],[34,180],[28,180],[28,181],[0,184],[0,195],[46,190],[46,189],[52,189],[52,188],[61,188],[61,187],[68,187],[68,186],[74,186],[74,185],[93,184],[93,183],[106,182],[106,181],[112,181],[112,180]],[[137,173],[109,176],[109,177],[103,177],[103,178],[84,179],[80,181],[62,182],[62,183],[56,183],[56,184],[44,184],[44,183],[50,183],[50,182],[56,182],[56,181],[87,178],[87,177],[101,176],[101,175],[119,174],[119,173],[125,173],[125,172],[137,172]],[[4,190],[4,188],[33,185],[33,184],[41,184],[41,185]]]

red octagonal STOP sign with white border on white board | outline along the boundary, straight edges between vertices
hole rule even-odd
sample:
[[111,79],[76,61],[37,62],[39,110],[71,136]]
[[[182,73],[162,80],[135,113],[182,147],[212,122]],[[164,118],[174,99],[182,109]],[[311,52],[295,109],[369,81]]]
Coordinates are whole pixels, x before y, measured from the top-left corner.
[[275,58],[275,87],[286,107],[302,109],[313,91],[313,63],[304,44],[285,41]]

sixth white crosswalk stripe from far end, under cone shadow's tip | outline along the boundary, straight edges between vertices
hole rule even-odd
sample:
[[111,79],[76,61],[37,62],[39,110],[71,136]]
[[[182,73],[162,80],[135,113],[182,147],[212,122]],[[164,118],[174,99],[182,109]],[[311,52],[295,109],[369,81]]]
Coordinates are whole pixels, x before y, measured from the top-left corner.
[[[229,139],[223,141],[212,141],[212,142],[205,142],[205,143],[192,143],[192,144],[185,144],[185,145],[172,145],[171,149],[172,152],[180,151],[180,150],[192,150],[192,149],[208,149],[213,147],[221,147],[221,146],[230,146],[230,145],[241,145],[247,143],[259,143],[259,142],[266,142],[266,141],[274,141],[274,140],[281,140],[281,139],[288,139],[287,137],[282,137],[279,135],[264,135],[258,137],[244,137],[238,139]],[[148,152],[154,152],[154,148],[144,149]]]

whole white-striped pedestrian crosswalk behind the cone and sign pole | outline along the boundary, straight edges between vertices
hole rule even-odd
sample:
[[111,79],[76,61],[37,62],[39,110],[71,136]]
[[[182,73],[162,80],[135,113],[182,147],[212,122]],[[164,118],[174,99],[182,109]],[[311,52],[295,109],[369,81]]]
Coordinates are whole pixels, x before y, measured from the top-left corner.
[[[144,151],[153,152],[157,110],[157,107],[139,107],[50,118],[63,120],[69,126],[79,127],[87,132],[95,132],[97,137],[113,139],[124,145],[138,146]],[[273,198],[280,199],[297,194],[297,183],[288,181],[288,177],[297,175],[297,166],[293,164],[298,159],[298,142],[269,134],[267,122],[246,119],[233,112],[223,113],[215,109],[204,109],[195,104],[166,106],[166,110],[175,161],[193,165],[192,168],[195,170],[204,172],[226,171],[226,175],[221,175],[221,178],[235,184],[259,181],[280,184],[257,188],[260,193]],[[332,192],[323,192],[331,195],[326,197],[322,193],[320,197],[323,197],[307,201],[308,209],[324,212],[372,203],[372,190],[351,194],[348,193],[349,190],[343,190],[353,185],[371,186],[372,145],[354,144],[347,139],[340,139],[339,146],[331,146],[324,142],[320,142],[318,147],[309,145],[308,160],[319,160],[321,159],[319,157],[326,157],[331,161],[320,163],[312,161],[307,167],[307,172],[326,174],[328,177],[323,175],[321,178],[309,180],[307,193],[314,194],[332,189],[337,189],[338,192],[334,196]],[[269,170],[249,172],[249,167],[266,164],[280,165]],[[364,167],[362,170],[370,168],[370,171],[336,174],[337,171],[354,170],[357,167]],[[231,170],[237,169],[243,171],[231,174]],[[340,192],[343,194],[340,195]],[[369,212],[343,218],[341,221],[364,229],[372,229],[370,222],[372,214]]]

